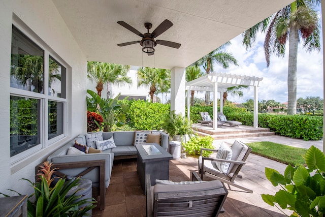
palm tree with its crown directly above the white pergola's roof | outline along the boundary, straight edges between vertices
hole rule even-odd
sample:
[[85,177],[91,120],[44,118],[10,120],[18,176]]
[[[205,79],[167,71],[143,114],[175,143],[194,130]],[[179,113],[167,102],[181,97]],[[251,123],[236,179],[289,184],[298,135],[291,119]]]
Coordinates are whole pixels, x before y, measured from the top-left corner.
[[[210,72],[213,71],[214,63],[222,66],[223,69],[229,68],[230,64],[234,64],[235,66],[238,66],[237,59],[235,59],[235,57],[231,53],[223,51],[223,49],[230,44],[231,42],[227,42],[221,45],[217,49],[203,56],[201,59],[196,61],[193,65],[203,66],[203,69],[205,70],[206,74],[210,74]],[[207,105],[210,104],[209,91],[206,92],[205,102]]]

